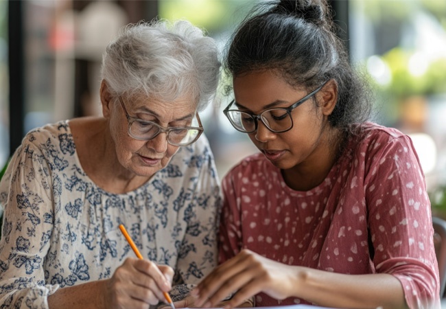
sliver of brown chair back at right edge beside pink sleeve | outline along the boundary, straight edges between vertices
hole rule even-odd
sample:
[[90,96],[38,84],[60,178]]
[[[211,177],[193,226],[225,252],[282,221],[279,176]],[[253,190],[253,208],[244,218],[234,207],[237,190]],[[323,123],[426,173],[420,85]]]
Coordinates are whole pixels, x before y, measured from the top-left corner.
[[446,220],[432,217],[432,225],[434,226],[436,260],[440,272],[440,298],[443,298],[446,287]]

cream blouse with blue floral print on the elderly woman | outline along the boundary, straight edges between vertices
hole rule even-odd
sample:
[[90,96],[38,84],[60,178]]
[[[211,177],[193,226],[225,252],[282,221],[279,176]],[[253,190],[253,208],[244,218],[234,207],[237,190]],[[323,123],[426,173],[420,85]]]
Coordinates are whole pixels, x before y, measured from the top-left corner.
[[58,288],[113,275],[134,253],[174,268],[181,299],[216,264],[220,187],[205,137],[127,194],[97,187],[68,121],[32,130],[0,182],[0,308],[48,308]]

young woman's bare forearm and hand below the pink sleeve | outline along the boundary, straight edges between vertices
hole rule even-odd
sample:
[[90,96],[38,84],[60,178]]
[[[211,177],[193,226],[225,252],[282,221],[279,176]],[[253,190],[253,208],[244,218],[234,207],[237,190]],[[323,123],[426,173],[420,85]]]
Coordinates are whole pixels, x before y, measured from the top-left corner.
[[226,308],[260,292],[335,308],[406,308],[401,284],[392,275],[345,275],[289,266],[246,249],[199,284],[196,306],[211,308],[234,290],[238,291]]

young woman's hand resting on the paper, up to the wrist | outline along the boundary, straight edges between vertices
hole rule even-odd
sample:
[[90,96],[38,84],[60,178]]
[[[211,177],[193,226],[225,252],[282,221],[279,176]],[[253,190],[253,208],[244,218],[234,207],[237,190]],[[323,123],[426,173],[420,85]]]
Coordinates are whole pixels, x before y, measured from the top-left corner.
[[231,260],[215,268],[191,292],[195,306],[212,308],[235,293],[225,308],[234,308],[246,299],[263,292],[276,299],[292,295],[297,286],[296,266],[274,262],[244,249]]

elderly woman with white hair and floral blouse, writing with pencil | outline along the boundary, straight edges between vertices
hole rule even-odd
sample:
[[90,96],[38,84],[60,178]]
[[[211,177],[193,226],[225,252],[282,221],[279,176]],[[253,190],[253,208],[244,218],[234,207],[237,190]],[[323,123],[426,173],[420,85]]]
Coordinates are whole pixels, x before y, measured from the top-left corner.
[[1,180],[2,308],[148,308],[211,271],[220,187],[197,111],[219,73],[187,21],[129,25],[108,45],[104,117],[32,130]]

